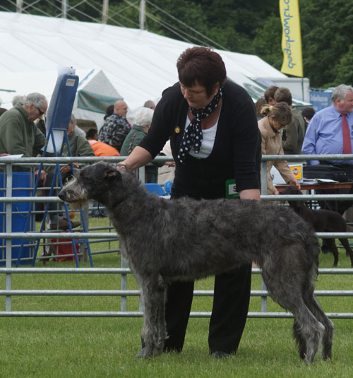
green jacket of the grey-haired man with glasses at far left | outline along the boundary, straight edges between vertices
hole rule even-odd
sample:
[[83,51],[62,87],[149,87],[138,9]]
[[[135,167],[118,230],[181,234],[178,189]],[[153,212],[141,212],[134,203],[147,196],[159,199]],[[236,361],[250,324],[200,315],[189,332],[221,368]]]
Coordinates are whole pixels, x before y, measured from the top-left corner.
[[28,120],[28,112],[17,104],[0,117],[0,153],[22,154],[23,157],[41,153],[45,136],[34,122]]

